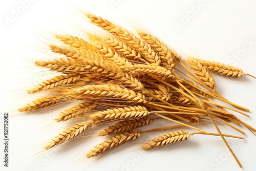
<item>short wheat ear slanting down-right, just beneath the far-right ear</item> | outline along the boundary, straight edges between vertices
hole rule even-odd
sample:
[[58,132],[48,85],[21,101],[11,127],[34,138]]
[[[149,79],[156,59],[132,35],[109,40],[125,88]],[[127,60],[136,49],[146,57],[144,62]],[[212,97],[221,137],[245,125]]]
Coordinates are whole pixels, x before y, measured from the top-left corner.
[[195,72],[198,78],[204,84],[206,84],[206,86],[208,86],[212,90],[215,90],[216,89],[215,78],[214,76],[211,75],[211,73],[206,68],[206,66],[204,66],[203,63],[199,62],[195,58],[188,57],[187,61],[189,63],[189,67]]

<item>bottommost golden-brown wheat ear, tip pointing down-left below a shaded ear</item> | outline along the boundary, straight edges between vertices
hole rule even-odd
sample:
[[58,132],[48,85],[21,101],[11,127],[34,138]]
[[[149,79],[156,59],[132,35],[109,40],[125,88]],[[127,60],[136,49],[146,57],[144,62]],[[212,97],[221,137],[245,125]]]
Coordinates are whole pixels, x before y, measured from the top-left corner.
[[101,155],[102,153],[106,153],[110,149],[124,144],[129,141],[134,141],[141,136],[141,133],[137,130],[127,131],[121,134],[118,134],[114,137],[111,137],[108,140],[105,140],[98,145],[96,145],[91,151],[87,154],[87,158],[92,158]]

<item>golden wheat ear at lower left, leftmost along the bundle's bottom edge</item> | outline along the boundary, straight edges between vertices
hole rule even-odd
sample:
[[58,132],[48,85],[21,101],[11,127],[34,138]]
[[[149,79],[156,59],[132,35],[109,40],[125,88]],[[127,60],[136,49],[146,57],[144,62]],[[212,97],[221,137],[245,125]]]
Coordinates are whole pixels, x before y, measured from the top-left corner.
[[74,126],[69,127],[67,130],[63,131],[59,135],[57,135],[55,138],[53,138],[48,145],[46,145],[45,149],[53,148],[59,144],[62,144],[68,140],[71,140],[85,131],[87,131],[91,127],[90,123],[87,122],[80,122],[76,123]]

